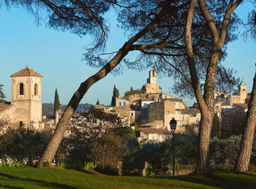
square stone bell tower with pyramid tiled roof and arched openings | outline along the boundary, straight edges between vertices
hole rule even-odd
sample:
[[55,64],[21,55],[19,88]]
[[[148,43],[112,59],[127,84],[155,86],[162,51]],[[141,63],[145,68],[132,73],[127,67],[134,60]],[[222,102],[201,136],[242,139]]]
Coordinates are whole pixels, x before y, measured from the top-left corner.
[[42,121],[42,75],[26,66],[11,77],[13,123],[38,128]]

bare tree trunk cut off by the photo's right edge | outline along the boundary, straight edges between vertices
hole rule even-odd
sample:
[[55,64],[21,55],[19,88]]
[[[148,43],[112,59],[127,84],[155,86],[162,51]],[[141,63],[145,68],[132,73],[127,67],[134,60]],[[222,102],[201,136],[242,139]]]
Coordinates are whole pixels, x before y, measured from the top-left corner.
[[[256,63],[255,63],[256,66]],[[249,161],[252,154],[252,143],[255,136],[256,126],[256,72],[253,79],[251,98],[248,104],[248,111],[246,112],[246,127],[242,135],[240,151],[236,161],[235,171],[248,171]]]

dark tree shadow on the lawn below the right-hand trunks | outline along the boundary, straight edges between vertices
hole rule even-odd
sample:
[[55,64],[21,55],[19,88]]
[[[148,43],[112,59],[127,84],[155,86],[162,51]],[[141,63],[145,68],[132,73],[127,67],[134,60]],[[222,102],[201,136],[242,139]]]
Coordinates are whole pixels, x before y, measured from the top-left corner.
[[228,173],[211,173],[207,176],[198,176],[190,174],[186,176],[161,177],[170,180],[181,180],[184,182],[193,182],[219,188],[255,188],[256,180],[252,174],[228,174]]

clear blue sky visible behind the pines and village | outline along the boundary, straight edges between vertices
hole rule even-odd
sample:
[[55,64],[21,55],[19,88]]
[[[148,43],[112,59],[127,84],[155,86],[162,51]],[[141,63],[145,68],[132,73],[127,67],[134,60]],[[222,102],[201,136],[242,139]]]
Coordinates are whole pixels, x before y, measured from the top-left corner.
[[[241,18],[246,18],[250,9],[248,4],[238,8]],[[110,23],[111,33],[108,39],[107,52],[118,50],[127,40],[124,31],[116,27],[113,12],[105,15]],[[53,102],[55,88],[58,89],[61,104],[67,104],[72,94],[83,82],[97,72],[82,61],[83,48],[91,43],[90,36],[80,38],[69,32],[55,31],[37,26],[34,18],[23,9],[13,8],[9,11],[0,9],[0,84],[4,85],[7,100],[11,100],[10,74],[18,72],[29,65],[29,68],[42,74],[42,101]],[[242,29],[241,29],[242,31]],[[256,42],[244,41],[241,37],[230,43],[227,49],[225,64],[236,69],[238,77],[252,90],[252,79],[255,74]],[[133,57],[134,54],[129,54]],[[81,103],[110,104],[113,85],[116,84],[121,96],[130,87],[141,88],[146,83],[148,70],[143,72],[124,70],[123,74],[109,74],[94,84],[84,96]],[[170,93],[173,81],[165,76],[158,76],[157,82],[164,93]],[[184,99],[192,105],[194,99]]]

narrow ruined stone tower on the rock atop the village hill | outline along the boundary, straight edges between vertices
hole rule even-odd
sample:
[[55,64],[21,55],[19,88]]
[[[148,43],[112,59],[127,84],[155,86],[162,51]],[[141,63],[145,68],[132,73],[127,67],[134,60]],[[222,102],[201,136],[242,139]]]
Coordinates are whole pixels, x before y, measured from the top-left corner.
[[154,69],[151,69],[149,71],[149,77],[147,79],[147,83],[143,85],[141,88],[143,90],[143,93],[159,93],[159,85],[157,84],[157,71]]

